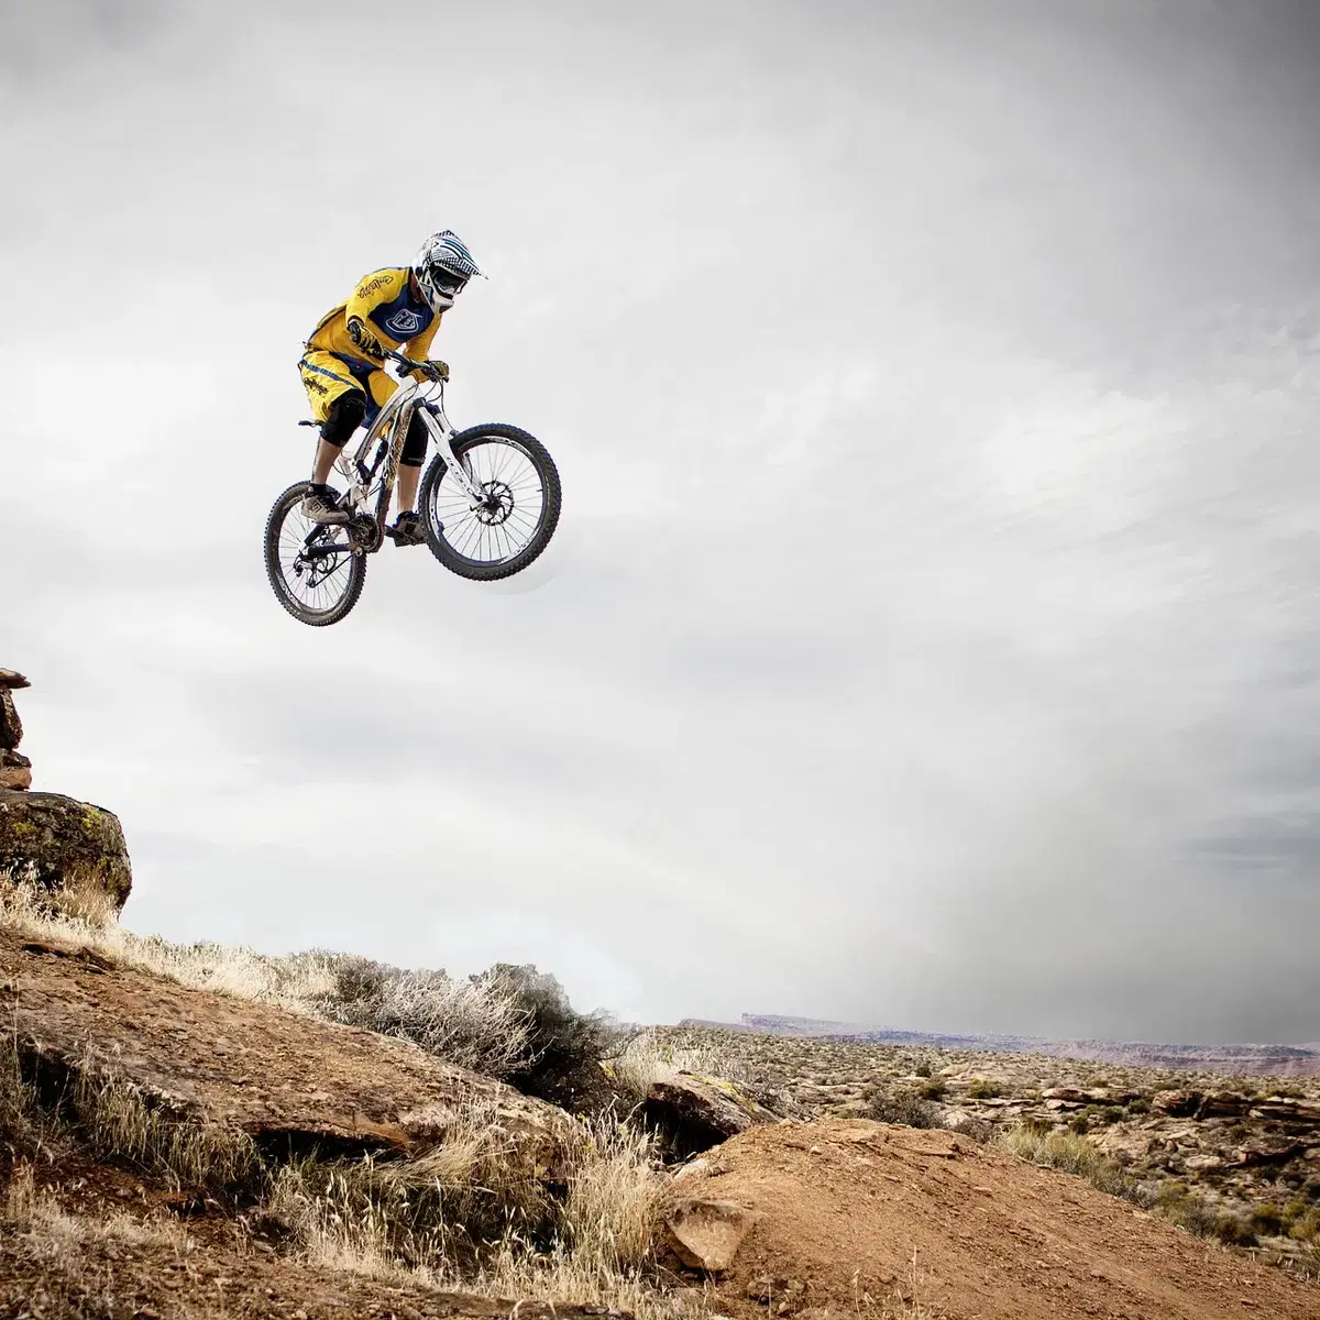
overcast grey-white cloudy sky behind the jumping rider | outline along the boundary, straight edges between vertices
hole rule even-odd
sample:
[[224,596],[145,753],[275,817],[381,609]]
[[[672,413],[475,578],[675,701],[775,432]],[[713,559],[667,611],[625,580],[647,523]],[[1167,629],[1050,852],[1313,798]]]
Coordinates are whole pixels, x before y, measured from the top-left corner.
[[[582,1007],[1320,1039],[1320,11],[0,0],[0,664],[125,923]],[[453,227],[504,585],[261,529]]]

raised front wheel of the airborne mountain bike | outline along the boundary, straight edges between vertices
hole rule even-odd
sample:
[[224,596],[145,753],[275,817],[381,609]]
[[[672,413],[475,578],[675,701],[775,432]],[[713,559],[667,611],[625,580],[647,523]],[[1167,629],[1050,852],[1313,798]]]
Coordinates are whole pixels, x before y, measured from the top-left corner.
[[459,577],[512,577],[550,544],[560,521],[560,474],[545,446],[517,426],[490,422],[454,436],[454,454],[484,495],[473,506],[444,454],[418,492],[430,553]]

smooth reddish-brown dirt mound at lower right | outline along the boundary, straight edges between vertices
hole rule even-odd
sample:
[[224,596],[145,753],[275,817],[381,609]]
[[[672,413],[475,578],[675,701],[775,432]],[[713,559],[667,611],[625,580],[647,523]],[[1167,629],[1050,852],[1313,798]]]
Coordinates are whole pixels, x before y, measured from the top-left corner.
[[855,1312],[865,1296],[948,1320],[1320,1316],[1313,1283],[945,1131],[863,1119],[756,1127],[673,1192],[754,1212],[715,1284],[718,1309],[739,1320]]

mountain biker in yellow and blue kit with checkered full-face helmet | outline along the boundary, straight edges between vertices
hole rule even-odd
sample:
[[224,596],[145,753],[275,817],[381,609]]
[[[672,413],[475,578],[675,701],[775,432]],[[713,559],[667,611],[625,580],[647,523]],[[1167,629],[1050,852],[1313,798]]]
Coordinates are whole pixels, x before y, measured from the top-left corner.
[[[298,363],[312,413],[321,424],[312,480],[302,512],[314,523],[347,523],[339,492],[327,486],[330,469],[359,425],[370,426],[399,388],[385,375],[385,348],[399,351],[433,379],[447,380],[449,367],[426,354],[441,317],[454,305],[474,275],[480,275],[471,252],[451,230],[433,234],[412,265],[385,267],[358,281],[347,302],[341,302],[317,323]],[[426,428],[413,414],[399,458],[399,512],[387,535],[396,545],[420,545],[425,539],[417,503],[417,482],[426,457]]]

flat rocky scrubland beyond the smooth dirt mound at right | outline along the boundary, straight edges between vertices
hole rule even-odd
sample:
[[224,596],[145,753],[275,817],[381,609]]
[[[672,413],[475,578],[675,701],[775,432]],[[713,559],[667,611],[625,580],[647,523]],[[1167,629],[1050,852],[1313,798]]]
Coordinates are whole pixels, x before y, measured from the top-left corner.
[[1320,1078],[700,1027],[669,1028],[664,1040],[677,1057],[723,1060],[752,1094],[803,1118],[886,1113],[898,1096],[919,1097],[933,1121],[981,1137],[1020,1123],[1085,1135],[1146,1201],[1189,1217],[1193,1230],[1320,1266]]

